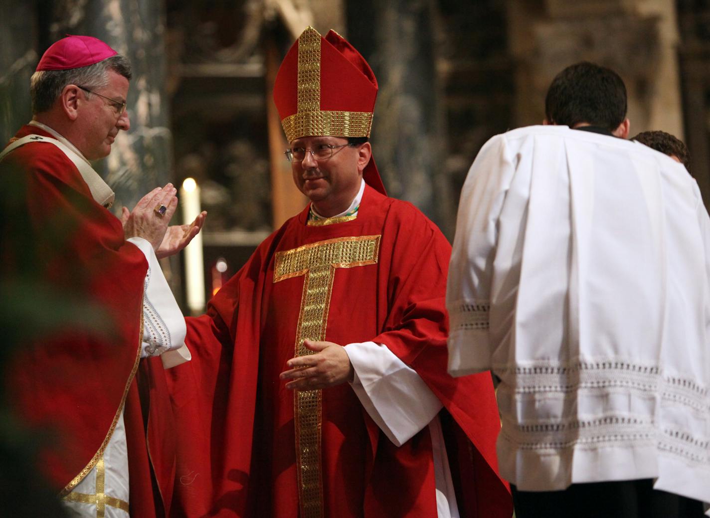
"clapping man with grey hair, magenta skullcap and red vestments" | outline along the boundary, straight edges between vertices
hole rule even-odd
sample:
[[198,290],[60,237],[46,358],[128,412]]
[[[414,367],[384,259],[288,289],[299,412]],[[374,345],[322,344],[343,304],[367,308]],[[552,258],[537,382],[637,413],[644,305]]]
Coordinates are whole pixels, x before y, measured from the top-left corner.
[[158,258],[183,248],[204,215],[191,227],[168,227],[177,206],[168,184],[119,220],[107,210],[114,193],[89,162],[109,155],[119,131],[129,130],[129,79],[128,60],[101,40],[59,40],[31,78],[32,121],[0,153],[0,192],[12,215],[3,225],[1,274],[80,301],[75,319],[104,317],[101,332],[64,324],[28,339],[4,373],[18,415],[53,434],[40,470],[80,517],[167,515],[170,415],[148,399],[141,409],[136,375],[146,392],[159,391],[163,366],[189,359],[184,319]]

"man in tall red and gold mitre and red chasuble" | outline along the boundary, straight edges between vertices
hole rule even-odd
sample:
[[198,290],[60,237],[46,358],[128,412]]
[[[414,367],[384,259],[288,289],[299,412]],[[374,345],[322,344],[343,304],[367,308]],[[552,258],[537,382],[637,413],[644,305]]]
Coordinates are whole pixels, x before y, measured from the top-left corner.
[[512,514],[491,377],[446,372],[449,243],[372,159],[376,93],[333,31],[283,60],[274,100],[310,204],[187,319],[192,361],[167,371],[176,514]]

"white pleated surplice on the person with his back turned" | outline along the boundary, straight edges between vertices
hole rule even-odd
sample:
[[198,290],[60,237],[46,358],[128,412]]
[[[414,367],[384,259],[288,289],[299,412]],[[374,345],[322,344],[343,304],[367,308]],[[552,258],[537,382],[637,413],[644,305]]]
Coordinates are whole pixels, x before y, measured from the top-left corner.
[[709,247],[697,184],[662,153],[566,126],[488,140],[461,192],[449,372],[501,378],[504,478],[710,502]]

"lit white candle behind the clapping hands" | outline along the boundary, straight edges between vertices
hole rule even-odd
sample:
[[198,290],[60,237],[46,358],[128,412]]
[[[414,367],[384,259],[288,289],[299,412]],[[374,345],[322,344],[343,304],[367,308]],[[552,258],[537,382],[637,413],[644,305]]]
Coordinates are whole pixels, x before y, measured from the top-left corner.
[[[200,214],[200,187],[193,178],[185,178],[180,188],[182,223],[191,224]],[[185,247],[185,294],[187,307],[192,314],[204,312],[204,260],[202,259],[202,232]]]

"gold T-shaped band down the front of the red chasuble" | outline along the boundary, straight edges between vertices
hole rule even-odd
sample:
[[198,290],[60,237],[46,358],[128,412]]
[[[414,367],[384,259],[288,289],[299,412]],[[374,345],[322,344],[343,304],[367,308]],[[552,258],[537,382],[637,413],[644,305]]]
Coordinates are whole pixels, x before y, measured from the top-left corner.
[[[303,341],[322,341],[336,268],[377,263],[381,236],[328,239],[276,253],[273,282],[303,275],[303,294],[296,329],[295,356],[314,354]],[[296,472],[300,518],[323,516],[320,458],[321,391],[297,390],[293,398]]]

